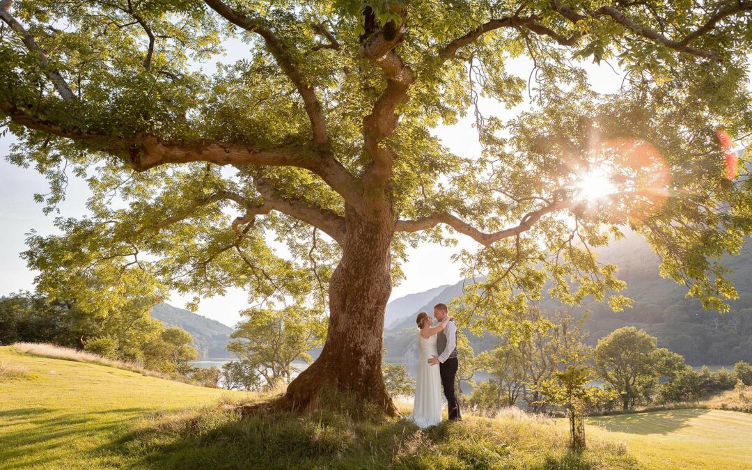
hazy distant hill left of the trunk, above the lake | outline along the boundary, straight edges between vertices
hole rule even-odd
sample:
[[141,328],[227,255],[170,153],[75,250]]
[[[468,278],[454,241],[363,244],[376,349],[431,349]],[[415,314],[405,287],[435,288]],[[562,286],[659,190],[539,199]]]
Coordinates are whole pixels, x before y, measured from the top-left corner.
[[193,336],[193,347],[199,351],[200,359],[230,356],[226,347],[233,329],[229,326],[169,304],[154,305],[151,317],[161,321],[165,326],[179,326],[189,332]]

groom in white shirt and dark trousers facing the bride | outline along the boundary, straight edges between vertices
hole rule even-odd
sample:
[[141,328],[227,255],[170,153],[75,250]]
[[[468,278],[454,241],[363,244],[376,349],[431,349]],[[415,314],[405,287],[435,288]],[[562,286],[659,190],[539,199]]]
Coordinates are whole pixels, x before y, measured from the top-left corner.
[[[433,308],[433,316],[441,322],[449,314],[446,304],[436,304]],[[459,361],[457,359],[457,326],[452,320],[447,323],[444,331],[438,332],[436,337],[436,350],[438,357],[428,359],[429,364],[438,364],[438,372],[441,375],[441,385],[444,387],[444,396],[447,397],[450,420],[462,420],[459,416],[459,402],[454,394],[454,378],[457,374]]]

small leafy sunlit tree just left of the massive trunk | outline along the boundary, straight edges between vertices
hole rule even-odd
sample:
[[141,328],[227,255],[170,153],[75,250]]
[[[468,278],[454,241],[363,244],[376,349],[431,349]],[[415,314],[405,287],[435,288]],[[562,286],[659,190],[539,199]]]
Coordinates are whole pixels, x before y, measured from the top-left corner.
[[[308,351],[323,344],[326,321],[320,311],[292,305],[280,310],[250,308],[241,312],[247,320],[238,323],[227,349],[239,365],[226,371],[238,387],[271,388],[290,384],[294,361],[310,364]],[[248,390],[248,389],[247,389]]]

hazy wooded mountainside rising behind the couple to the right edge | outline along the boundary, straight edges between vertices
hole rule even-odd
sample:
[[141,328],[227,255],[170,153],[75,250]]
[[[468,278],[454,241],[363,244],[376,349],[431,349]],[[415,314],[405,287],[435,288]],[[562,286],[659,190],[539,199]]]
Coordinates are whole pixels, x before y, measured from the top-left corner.
[[[729,278],[734,282],[739,299],[730,302],[726,314],[702,309],[697,299],[687,299],[687,288],[660,277],[660,260],[650,247],[638,237],[628,233],[626,238],[599,252],[602,262],[619,266],[618,277],[627,283],[623,292],[634,303],[632,308],[614,312],[608,305],[587,299],[581,308],[569,308],[575,317],[588,314],[585,329],[590,332],[588,342],[596,344],[614,329],[636,326],[658,338],[659,347],[668,347],[680,353],[693,365],[729,365],[738,360],[752,360],[752,253],[726,259],[726,266],[734,272]],[[396,320],[384,332],[387,361],[409,362],[414,356],[414,314],[425,310],[432,312],[437,302],[449,303],[462,293],[462,286],[472,280],[463,280],[447,287],[423,308]],[[541,302],[547,311],[566,308],[549,298]],[[496,343],[490,335],[478,338],[470,335],[475,353],[488,350]]]

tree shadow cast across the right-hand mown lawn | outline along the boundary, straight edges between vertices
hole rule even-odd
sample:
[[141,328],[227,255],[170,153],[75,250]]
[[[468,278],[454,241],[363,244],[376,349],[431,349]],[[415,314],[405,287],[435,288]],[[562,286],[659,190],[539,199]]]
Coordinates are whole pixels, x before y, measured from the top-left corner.
[[614,414],[605,417],[591,417],[589,424],[611,432],[629,434],[669,434],[689,426],[689,420],[708,413],[705,408],[677,409],[669,411],[644,411],[632,414]]

